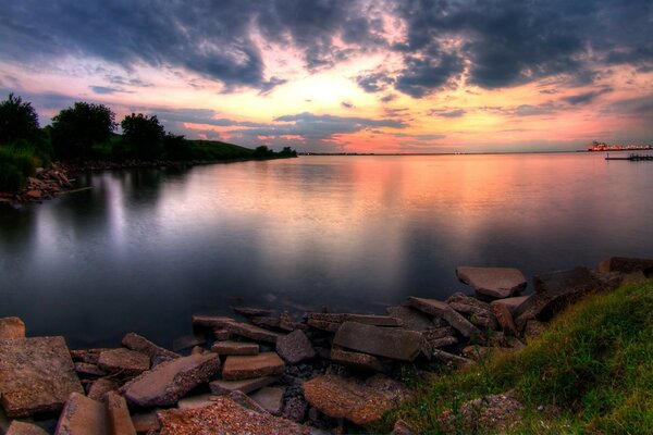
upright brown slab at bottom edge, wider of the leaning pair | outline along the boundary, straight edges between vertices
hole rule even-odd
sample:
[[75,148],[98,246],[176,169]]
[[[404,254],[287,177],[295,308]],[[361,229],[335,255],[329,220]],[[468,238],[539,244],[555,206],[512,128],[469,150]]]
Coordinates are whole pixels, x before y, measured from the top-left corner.
[[54,435],[106,435],[109,432],[104,406],[73,393],[59,417]]

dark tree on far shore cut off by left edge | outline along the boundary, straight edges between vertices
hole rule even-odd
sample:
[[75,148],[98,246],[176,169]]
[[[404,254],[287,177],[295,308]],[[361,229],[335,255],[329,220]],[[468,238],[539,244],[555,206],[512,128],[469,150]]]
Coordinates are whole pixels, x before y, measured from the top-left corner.
[[0,145],[33,140],[39,134],[38,115],[29,102],[10,94],[0,103]]

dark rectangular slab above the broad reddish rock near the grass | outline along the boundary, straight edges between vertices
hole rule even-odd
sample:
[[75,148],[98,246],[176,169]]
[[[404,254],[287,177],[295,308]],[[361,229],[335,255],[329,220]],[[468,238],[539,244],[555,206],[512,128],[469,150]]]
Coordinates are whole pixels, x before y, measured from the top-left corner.
[[395,327],[345,322],[335,333],[333,344],[378,357],[412,361],[419,355],[421,334]]

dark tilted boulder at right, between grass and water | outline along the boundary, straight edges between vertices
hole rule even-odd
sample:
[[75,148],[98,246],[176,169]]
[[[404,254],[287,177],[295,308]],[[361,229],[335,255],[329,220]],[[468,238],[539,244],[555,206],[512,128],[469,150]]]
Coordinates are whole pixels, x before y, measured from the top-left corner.
[[533,284],[535,293],[517,307],[513,314],[520,331],[528,320],[547,321],[569,303],[603,288],[599,277],[587,268],[537,275]]

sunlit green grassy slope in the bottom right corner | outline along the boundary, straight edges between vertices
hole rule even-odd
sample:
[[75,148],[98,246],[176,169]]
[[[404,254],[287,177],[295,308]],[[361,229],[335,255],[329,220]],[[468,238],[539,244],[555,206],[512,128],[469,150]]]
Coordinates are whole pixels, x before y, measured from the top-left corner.
[[455,414],[468,400],[510,388],[526,407],[512,433],[652,434],[653,282],[588,297],[525,349],[424,382],[414,401],[371,430],[389,432],[401,418],[419,433],[436,434],[443,411]]

